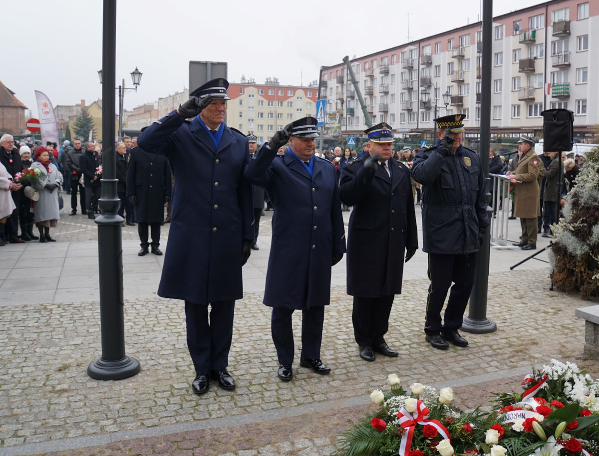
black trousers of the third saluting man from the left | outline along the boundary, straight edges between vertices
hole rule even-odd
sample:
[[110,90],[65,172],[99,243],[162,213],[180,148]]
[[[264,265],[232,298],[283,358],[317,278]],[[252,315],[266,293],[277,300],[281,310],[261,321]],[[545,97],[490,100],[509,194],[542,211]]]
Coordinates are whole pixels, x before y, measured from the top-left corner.
[[394,294],[380,297],[353,297],[353,336],[360,346],[380,345],[389,330]]

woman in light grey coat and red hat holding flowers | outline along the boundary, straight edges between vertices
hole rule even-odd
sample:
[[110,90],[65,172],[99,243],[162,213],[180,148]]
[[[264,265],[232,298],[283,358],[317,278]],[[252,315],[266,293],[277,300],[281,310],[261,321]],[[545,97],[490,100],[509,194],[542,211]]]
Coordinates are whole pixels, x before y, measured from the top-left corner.
[[40,231],[40,242],[56,242],[50,237],[50,228],[58,225],[60,211],[58,193],[62,184],[62,174],[50,162],[50,155],[45,147],[35,149],[35,162],[32,168],[42,172],[43,180],[35,188],[40,191],[40,199],[34,202],[34,220]]

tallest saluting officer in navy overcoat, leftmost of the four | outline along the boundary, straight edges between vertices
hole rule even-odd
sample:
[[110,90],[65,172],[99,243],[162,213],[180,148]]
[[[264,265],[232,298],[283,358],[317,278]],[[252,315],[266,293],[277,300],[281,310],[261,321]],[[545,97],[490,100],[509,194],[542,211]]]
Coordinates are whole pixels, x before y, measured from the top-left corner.
[[185,301],[196,394],[208,391],[208,376],[235,388],[226,368],[254,239],[252,187],[243,177],[250,153],[246,136],[225,124],[228,87],[223,78],[208,81],[137,138],[144,151],[168,157],[176,179],[158,294]]

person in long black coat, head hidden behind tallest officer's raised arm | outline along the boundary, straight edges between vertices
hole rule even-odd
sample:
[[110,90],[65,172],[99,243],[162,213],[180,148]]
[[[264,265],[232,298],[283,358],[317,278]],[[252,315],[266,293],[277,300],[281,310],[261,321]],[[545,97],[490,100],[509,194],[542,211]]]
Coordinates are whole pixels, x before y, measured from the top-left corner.
[[[125,144],[121,144],[124,151]],[[152,229],[152,253],[162,255],[159,249],[160,225],[164,221],[164,205],[171,199],[171,169],[167,157],[144,152],[141,147],[132,149],[126,192],[129,201],[135,206],[141,245],[138,255],[143,257],[148,253],[148,227]]]

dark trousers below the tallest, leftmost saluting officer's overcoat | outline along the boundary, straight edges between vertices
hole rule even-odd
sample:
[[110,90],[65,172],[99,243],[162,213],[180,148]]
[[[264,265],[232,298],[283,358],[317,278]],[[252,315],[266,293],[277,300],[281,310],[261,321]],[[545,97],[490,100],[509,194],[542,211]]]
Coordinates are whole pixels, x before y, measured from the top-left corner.
[[207,305],[185,301],[187,349],[196,373],[208,375],[229,365],[234,311],[234,300],[210,303],[210,315]]

